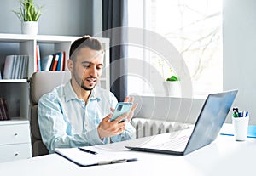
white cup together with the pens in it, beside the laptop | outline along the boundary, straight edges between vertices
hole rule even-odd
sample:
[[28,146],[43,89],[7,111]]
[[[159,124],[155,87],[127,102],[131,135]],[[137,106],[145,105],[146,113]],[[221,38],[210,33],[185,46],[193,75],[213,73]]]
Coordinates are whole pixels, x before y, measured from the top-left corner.
[[232,123],[236,141],[246,140],[249,124],[248,111],[238,111],[238,108],[233,108]]

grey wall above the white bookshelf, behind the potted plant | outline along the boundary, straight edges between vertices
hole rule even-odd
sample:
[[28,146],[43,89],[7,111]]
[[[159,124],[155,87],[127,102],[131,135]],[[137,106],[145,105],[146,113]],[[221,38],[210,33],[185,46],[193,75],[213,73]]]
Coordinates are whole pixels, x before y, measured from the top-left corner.
[[[98,2],[99,0],[97,0]],[[20,33],[20,20],[12,9],[19,9],[20,0],[0,0],[0,33]],[[38,20],[38,34],[81,36],[93,34],[93,0],[34,0],[44,6]],[[95,14],[101,14],[101,7]],[[101,24],[101,20],[95,20]],[[97,30],[98,31],[98,30]]]

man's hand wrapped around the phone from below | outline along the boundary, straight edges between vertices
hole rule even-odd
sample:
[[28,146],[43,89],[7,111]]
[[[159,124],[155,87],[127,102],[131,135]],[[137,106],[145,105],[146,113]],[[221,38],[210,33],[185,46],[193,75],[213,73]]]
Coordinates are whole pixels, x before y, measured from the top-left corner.
[[102,119],[100,122],[97,130],[101,139],[108,138],[115,136],[119,133],[123,133],[125,131],[125,122],[120,122],[122,119],[125,118],[127,114],[119,116],[113,122],[110,122],[110,118],[112,114],[109,114],[105,118]]

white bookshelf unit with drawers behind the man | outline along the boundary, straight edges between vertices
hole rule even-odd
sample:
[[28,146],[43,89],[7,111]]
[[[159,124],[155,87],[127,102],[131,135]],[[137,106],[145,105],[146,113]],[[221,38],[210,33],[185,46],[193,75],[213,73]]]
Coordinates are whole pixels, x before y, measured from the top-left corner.
[[[0,156],[2,156],[3,154],[5,156],[9,156],[6,157],[7,159],[0,160],[0,162],[32,157],[30,132],[27,130],[25,130],[26,132],[24,132],[24,128],[30,129],[29,78],[32,76],[32,73],[36,71],[36,46],[39,45],[40,58],[43,58],[45,55],[65,51],[65,70],[67,70],[69,47],[71,43],[73,43],[73,41],[77,38],[79,37],[49,35],[30,36],[24,34],[0,33],[0,71],[2,78],[6,55],[22,54],[29,56],[27,79],[0,80],[0,97],[7,99],[9,116],[11,118],[11,120],[8,122],[0,121],[0,131],[8,128],[9,134],[7,135],[9,136],[9,138],[10,136],[17,137],[19,133],[29,137],[26,138],[26,140],[12,140],[13,142],[9,142],[9,140],[6,139],[7,137],[5,135],[1,135],[0,149],[2,149],[0,150]],[[100,84],[102,88],[106,88],[109,90],[109,39],[102,37],[98,37],[98,39],[102,42],[103,48],[105,48],[104,65],[107,68],[103,70]],[[19,127],[21,126],[21,128],[17,128],[17,125]],[[16,129],[22,129],[23,131],[17,132]],[[23,147],[19,147],[19,145],[22,145]],[[7,150],[7,148],[9,150]],[[30,152],[28,150],[30,150]]]

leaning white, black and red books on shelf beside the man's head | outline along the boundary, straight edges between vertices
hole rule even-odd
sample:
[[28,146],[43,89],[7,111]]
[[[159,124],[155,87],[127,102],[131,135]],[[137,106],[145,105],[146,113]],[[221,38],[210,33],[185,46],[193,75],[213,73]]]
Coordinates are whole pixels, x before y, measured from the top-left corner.
[[41,69],[38,71],[64,71],[65,51],[44,56],[40,62]]

